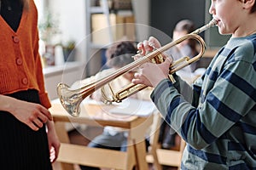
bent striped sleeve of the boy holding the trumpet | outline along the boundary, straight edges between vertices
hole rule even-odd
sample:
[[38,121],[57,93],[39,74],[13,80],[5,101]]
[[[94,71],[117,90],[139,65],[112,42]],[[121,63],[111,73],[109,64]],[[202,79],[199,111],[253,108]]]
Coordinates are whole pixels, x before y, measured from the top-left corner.
[[253,109],[255,68],[243,58],[244,55],[244,47],[237,48],[222,70],[212,69],[207,73],[205,83],[212,82],[212,87],[206,90],[207,93],[202,92],[198,107],[184,100],[168,80],[154,89],[152,99],[166,122],[194,148],[202,149],[212,144]]

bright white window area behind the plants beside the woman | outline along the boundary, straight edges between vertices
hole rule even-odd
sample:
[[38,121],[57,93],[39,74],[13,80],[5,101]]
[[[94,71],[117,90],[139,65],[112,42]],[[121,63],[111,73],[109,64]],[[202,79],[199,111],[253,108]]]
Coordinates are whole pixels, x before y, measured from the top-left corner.
[[77,60],[85,62],[85,2],[84,0],[49,1],[49,10],[60,23],[61,41],[74,40],[77,48]]

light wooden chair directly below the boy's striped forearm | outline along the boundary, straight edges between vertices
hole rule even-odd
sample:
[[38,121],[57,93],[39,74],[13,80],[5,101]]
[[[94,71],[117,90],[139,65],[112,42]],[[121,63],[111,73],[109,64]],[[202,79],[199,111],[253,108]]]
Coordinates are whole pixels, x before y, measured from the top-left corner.
[[154,135],[152,135],[150,139],[151,150],[149,150],[148,155],[146,156],[146,160],[148,163],[153,163],[155,169],[157,170],[161,170],[162,165],[178,167],[179,169],[181,166],[183,150],[186,143],[178,136],[178,138],[180,139],[178,150],[161,149],[158,142],[160,133],[160,116],[157,119],[158,120],[154,119],[154,122],[156,121],[156,124],[154,124],[153,126]]

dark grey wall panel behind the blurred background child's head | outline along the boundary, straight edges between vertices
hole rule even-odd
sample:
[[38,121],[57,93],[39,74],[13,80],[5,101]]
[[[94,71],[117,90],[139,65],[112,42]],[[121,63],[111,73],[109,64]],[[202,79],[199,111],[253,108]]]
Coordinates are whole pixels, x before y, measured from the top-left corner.
[[195,26],[205,23],[204,0],[150,0],[150,26],[165,32],[172,37],[174,26],[179,20],[189,19],[195,22]]

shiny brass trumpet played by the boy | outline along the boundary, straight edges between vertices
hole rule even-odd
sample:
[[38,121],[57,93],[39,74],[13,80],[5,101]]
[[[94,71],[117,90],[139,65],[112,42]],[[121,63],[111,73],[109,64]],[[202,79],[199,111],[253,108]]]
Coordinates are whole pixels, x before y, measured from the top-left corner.
[[[97,89],[102,88],[104,85],[108,84],[108,82],[113,81],[115,78],[125,74],[128,71],[134,70],[135,68],[139,67],[140,65],[143,65],[146,62],[154,62],[156,64],[159,64],[163,62],[164,59],[162,59],[161,54],[165,52],[167,49],[172,48],[173,46],[177,45],[180,42],[183,42],[184,40],[187,40],[189,38],[195,39],[197,42],[201,45],[201,51],[198,55],[196,55],[194,58],[189,59],[189,57],[184,57],[183,59],[178,59],[177,61],[174,61],[170,65],[169,69],[169,77],[172,80],[172,74],[183,67],[190,65],[191,63],[196,62],[197,60],[201,59],[202,55],[205,53],[206,44],[204,40],[198,35],[202,31],[206,31],[212,26],[217,25],[217,20],[211,20],[207,25],[202,26],[201,28],[177,39],[176,41],[169,42],[165,46],[155,49],[152,53],[147,54],[143,56],[140,59],[137,59],[133,61],[129,65],[125,65],[124,67],[118,69],[117,71],[114,71],[112,75],[108,77],[103,77],[102,79],[91,82],[90,84],[85,85],[82,88],[79,89],[70,89],[67,84],[65,83],[59,83],[57,86],[57,94],[61,100],[61,105],[66,109],[66,111],[72,115],[72,116],[79,116],[80,103],[90,94],[94,93]],[[136,94],[138,91],[142,90],[143,88],[147,88],[147,86],[143,84],[130,84],[127,87],[119,90],[116,94],[113,94],[112,99],[109,99],[107,95],[104,93],[104,90],[102,90],[102,97],[108,100],[108,102],[121,102],[123,99],[131,96],[132,94]],[[113,90],[111,89],[112,93]]]

